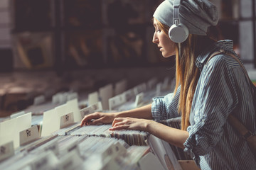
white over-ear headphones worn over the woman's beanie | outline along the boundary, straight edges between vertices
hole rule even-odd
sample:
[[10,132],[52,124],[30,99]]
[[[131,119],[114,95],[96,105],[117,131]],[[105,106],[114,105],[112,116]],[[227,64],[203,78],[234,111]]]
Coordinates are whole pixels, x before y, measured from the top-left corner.
[[188,28],[180,23],[178,18],[180,4],[181,0],[174,0],[174,24],[169,29],[169,38],[176,43],[181,43],[188,38]]

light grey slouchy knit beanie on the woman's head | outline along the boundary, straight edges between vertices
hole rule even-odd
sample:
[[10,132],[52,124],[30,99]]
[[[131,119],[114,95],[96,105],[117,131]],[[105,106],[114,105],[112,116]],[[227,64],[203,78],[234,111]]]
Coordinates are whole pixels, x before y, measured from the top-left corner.
[[[174,0],[163,1],[156,8],[153,16],[171,27],[174,18]],[[208,0],[181,0],[178,16],[190,34],[206,35],[207,28],[218,23],[218,9]]]

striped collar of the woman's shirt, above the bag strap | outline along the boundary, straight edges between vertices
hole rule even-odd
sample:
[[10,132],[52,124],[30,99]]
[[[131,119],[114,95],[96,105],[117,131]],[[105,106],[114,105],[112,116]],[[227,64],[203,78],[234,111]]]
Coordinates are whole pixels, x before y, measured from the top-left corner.
[[212,45],[207,47],[206,50],[203,50],[203,52],[201,52],[201,54],[198,55],[198,57],[196,58],[196,63],[195,63],[196,67],[202,70],[203,65],[207,61],[208,57],[210,57],[210,55],[213,52],[218,51],[220,49],[225,50],[226,52],[235,53],[233,51],[233,40],[220,40],[220,41],[214,42]]

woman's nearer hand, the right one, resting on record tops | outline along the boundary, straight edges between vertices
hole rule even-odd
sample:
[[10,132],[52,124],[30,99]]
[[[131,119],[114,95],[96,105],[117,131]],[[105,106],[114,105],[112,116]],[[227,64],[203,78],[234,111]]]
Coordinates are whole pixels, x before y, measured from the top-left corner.
[[114,118],[112,128],[110,130],[142,130],[148,131],[147,128],[150,124],[155,123],[153,120],[141,118]]

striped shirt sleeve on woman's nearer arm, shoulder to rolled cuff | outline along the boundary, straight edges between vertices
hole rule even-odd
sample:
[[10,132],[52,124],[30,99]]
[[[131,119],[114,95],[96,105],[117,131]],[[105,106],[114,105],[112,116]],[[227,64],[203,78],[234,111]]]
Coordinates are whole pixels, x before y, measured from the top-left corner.
[[238,103],[233,74],[227,63],[215,57],[203,68],[193,97],[184,151],[195,157],[205,155],[218,144],[228,115]]

